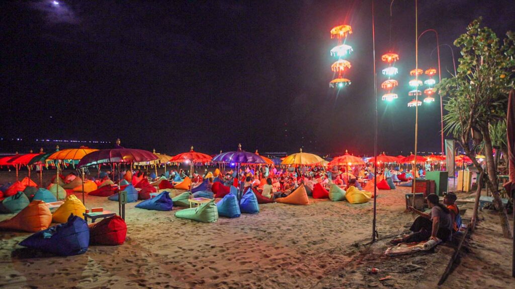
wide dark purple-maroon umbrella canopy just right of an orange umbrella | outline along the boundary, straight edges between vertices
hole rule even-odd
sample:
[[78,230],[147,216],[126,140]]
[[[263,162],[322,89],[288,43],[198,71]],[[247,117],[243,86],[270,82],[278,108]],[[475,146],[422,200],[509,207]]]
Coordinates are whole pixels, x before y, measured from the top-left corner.
[[141,161],[151,161],[159,157],[149,151],[137,149],[108,149],[93,151],[79,161],[78,167],[89,167],[100,164],[113,163],[132,163]]

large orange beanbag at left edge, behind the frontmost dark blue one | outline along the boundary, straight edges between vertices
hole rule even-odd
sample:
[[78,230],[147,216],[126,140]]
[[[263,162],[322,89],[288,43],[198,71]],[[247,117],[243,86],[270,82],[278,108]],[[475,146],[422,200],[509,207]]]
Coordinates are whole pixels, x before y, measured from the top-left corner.
[[25,209],[9,220],[0,222],[1,229],[13,229],[26,232],[44,230],[52,223],[52,213],[43,201],[32,201]]

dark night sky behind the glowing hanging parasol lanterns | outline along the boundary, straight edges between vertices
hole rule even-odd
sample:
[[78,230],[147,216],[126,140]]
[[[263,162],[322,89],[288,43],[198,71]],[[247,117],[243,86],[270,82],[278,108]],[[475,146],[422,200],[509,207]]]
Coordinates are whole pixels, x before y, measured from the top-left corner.
[[[419,33],[436,29],[440,44],[453,46],[478,16],[499,37],[515,29],[513,1],[419,2]],[[390,1],[375,1],[379,150],[392,154],[414,147],[414,3],[394,1],[390,46]],[[263,153],[373,153],[371,1],[3,1],[0,14],[4,138],[119,137],[169,154],[239,142]],[[340,24],[352,26],[354,52],[352,85],[338,91],[329,31]],[[435,47],[426,33],[420,68],[437,67]],[[400,87],[387,104],[380,57],[389,50],[401,58]],[[448,77],[451,49],[440,55]],[[419,114],[419,151],[440,151],[439,98]]]

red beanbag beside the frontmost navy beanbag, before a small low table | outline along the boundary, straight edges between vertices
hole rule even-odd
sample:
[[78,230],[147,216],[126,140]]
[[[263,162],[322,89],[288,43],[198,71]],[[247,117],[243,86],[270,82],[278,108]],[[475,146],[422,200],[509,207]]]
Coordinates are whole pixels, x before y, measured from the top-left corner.
[[90,227],[90,245],[122,245],[127,237],[127,224],[121,216],[111,216]]

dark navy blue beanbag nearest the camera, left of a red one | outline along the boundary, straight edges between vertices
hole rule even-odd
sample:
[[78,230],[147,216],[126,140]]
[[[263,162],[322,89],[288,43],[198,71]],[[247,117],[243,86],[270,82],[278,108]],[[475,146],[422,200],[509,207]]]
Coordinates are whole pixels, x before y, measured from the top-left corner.
[[61,256],[83,254],[88,250],[89,244],[88,223],[75,215],[70,215],[65,224],[32,234],[20,242],[21,246]]

